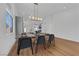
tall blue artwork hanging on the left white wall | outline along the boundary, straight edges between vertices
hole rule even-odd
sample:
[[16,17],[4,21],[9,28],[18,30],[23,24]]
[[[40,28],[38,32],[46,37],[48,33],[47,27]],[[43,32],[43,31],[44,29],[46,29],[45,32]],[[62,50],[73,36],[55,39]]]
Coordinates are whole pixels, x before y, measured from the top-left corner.
[[6,20],[6,32],[12,33],[13,32],[13,17],[9,11],[6,11],[5,20]]

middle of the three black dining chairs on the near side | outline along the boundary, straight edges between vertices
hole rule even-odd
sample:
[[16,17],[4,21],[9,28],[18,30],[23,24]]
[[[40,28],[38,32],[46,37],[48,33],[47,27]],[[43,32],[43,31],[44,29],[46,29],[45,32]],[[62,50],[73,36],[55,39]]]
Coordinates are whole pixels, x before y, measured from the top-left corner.
[[38,35],[35,53],[37,53],[37,51],[38,51],[38,45],[43,45],[44,49],[46,49],[46,47],[45,47],[45,36]]

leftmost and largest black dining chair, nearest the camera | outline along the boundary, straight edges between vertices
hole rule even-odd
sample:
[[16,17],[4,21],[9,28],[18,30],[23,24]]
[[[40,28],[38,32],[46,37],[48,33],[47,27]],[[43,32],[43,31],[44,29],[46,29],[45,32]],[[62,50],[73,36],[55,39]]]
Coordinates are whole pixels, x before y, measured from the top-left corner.
[[21,38],[19,38],[17,54],[19,55],[20,50],[24,49],[24,48],[31,48],[32,54],[33,54],[33,47],[32,47],[31,37],[21,37]]

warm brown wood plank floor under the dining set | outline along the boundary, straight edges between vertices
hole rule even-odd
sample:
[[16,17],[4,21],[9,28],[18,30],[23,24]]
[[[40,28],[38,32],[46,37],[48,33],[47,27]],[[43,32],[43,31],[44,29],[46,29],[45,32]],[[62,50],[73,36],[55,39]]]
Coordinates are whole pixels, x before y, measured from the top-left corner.
[[[17,44],[15,43],[8,54],[9,56],[17,56],[16,47]],[[30,48],[21,50],[20,56],[32,56]],[[55,38],[55,47],[51,45],[45,50],[39,46],[37,54],[34,53],[33,56],[79,56],[79,42]]]

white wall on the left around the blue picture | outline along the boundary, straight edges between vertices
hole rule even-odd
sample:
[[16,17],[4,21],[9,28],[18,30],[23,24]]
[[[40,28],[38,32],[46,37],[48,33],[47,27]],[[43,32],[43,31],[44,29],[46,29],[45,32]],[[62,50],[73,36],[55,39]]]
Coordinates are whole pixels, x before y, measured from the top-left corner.
[[0,55],[7,55],[15,42],[15,19],[13,19],[13,33],[6,33],[5,10],[11,10],[14,17],[14,5],[0,4]]

